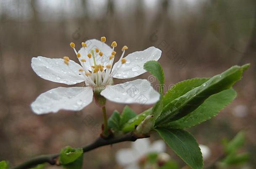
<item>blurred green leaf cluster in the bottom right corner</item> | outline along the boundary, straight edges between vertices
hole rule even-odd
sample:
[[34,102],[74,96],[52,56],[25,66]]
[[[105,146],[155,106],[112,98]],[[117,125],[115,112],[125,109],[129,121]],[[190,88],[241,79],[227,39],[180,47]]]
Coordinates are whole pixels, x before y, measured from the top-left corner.
[[225,150],[225,157],[219,163],[224,168],[233,165],[245,164],[249,160],[249,153],[238,153],[238,150],[244,145],[245,134],[240,131],[231,141],[223,139],[223,145]]

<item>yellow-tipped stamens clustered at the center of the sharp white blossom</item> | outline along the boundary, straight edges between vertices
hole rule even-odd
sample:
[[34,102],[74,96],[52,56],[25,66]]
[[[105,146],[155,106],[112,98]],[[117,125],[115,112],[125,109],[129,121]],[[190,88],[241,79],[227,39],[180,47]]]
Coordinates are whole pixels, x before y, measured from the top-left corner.
[[[103,43],[106,42],[106,38],[105,37],[101,37],[101,42],[102,42],[102,46]],[[84,81],[86,83],[87,86],[92,86],[94,87],[94,89],[97,88],[101,89],[101,88],[105,88],[105,86],[107,85],[112,85],[113,84],[113,76],[118,72],[118,70],[120,69],[121,66],[123,66],[126,63],[126,59],[123,58],[124,54],[125,54],[125,50],[128,49],[127,46],[123,46],[122,48],[122,55],[119,58],[119,60],[116,62],[116,66],[114,66],[114,68],[112,68],[113,63],[114,63],[114,59],[115,59],[115,47],[117,47],[117,43],[116,41],[113,41],[111,43],[111,47],[112,47],[112,52],[111,55],[108,56],[108,59],[110,60],[110,64],[109,61],[106,61],[106,64],[97,64],[97,58],[100,58],[103,56],[103,51],[100,50],[100,48],[93,48],[91,50],[87,50],[87,45],[86,43],[82,42],[81,43],[82,47],[84,48],[84,52],[86,53],[85,56],[81,57],[81,54],[78,53],[76,51],[75,48],[75,43],[70,43],[71,48],[73,48],[74,52],[76,53],[76,57],[78,58],[78,61],[81,63],[81,66],[83,67],[82,69],[79,69],[79,76],[83,76]],[[67,56],[63,57],[64,59],[64,63],[71,69],[71,67],[69,66],[69,58]],[[85,63],[89,63],[89,64],[85,64]],[[89,66],[88,66],[89,65]],[[73,73],[75,73],[72,69],[71,71]],[[75,73],[77,75],[77,73]],[[103,87],[104,86],[104,87]]]

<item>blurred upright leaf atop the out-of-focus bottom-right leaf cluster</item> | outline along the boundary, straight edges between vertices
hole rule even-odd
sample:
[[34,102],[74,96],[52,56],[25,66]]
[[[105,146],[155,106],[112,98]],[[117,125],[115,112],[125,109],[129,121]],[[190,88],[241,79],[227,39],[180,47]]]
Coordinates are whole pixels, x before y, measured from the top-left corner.
[[238,148],[243,146],[245,142],[245,133],[240,131],[229,143],[225,146],[226,153],[232,153],[236,151]]

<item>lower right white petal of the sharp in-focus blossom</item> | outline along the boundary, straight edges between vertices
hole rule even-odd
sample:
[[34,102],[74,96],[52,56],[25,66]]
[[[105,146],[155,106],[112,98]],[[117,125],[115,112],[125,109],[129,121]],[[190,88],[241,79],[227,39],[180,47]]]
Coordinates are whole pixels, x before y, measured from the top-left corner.
[[107,86],[100,94],[110,101],[126,104],[153,104],[160,98],[160,94],[146,79]]

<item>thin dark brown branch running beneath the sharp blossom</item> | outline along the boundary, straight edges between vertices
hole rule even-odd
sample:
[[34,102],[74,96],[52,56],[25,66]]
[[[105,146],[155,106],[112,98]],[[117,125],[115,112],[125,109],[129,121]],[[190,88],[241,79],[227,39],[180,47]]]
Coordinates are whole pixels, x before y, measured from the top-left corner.
[[[145,136],[145,137],[148,137],[148,136]],[[139,137],[134,135],[133,132],[127,133],[127,134],[119,136],[119,137],[113,137],[110,139],[104,139],[102,137],[99,137],[93,143],[84,146],[83,151],[85,153],[87,151],[97,149],[98,147],[101,147],[101,146],[120,143],[123,141],[136,141],[137,139],[139,139]],[[36,166],[36,165],[42,164],[42,163],[58,165],[59,164],[59,162],[58,162],[59,156],[60,156],[60,154],[47,154],[47,155],[37,156],[37,157],[34,157],[33,159],[30,159],[18,166],[13,167],[12,169],[29,169],[33,166]]]

